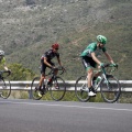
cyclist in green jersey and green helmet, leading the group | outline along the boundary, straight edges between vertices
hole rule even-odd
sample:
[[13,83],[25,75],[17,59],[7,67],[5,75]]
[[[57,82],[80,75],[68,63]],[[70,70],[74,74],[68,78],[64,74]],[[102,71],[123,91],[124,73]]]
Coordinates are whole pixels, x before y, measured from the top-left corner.
[[81,56],[81,61],[82,64],[87,70],[87,78],[88,78],[88,88],[86,89],[88,92],[88,96],[96,96],[95,89],[92,87],[92,81],[96,80],[96,78],[99,76],[100,73],[97,73],[94,76],[94,69],[96,68],[97,65],[99,67],[103,66],[105,64],[102,62],[100,62],[97,58],[97,51],[100,52],[102,51],[105,53],[105,55],[107,56],[108,61],[113,64],[113,66],[117,66],[117,64],[114,64],[112,57],[108,54],[105,45],[107,43],[107,37],[103,35],[98,35],[97,36],[97,42],[90,43],[86,50],[80,54]]

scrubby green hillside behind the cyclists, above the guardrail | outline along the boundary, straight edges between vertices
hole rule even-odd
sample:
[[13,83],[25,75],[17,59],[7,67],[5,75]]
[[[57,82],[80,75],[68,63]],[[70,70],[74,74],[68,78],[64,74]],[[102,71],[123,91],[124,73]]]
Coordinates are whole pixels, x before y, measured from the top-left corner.
[[0,0],[0,50],[14,80],[40,74],[41,55],[55,42],[65,79],[76,79],[85,73],[79,54],[98,34],[108,37],[119,79],[132,79],[132,0]]

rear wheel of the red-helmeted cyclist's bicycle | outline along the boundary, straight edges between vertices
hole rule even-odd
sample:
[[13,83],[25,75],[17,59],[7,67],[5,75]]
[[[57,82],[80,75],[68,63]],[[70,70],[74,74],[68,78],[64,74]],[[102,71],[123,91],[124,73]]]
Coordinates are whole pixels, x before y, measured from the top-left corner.
[[32,94],[32,98],[35,100],[40,100],[42,97],[38,96],[38,81],[40,81],[40,77],[35,77],[31,84],[31,94]]

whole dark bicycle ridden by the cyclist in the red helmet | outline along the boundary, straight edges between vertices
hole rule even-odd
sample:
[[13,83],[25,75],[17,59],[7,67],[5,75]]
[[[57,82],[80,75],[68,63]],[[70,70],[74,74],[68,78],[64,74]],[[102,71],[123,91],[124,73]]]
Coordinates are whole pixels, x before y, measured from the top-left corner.
[[[45,75],[45,79],[42,84],[42,97],[50,91],[50,95],[52,99],[59,101],[63,99],[66,92],[66,84],[64,79],[57,75],[55,75],[55,70],[62,70],[59,75],[64,74],[65,69],[63,67],[57,67],[55,69],[51,69],[48,74]],[[47,78],[51,76],[50,78]],[[40,90],[38,88],[38,81],[40,77],[35,77],[32,80],[31,85],[31,92],[32,92],[32,98],[35,100],[40,100],[42,97],[38,97]]]

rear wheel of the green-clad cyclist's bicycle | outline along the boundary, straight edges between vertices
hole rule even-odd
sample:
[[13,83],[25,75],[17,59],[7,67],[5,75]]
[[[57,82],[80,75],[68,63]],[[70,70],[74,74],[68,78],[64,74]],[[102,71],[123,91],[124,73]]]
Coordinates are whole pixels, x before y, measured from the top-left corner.
[[87,77],[86,76],[79,77],[75,84],[75,95],[78,98],[78,100],[82,102],[86,102],[90,99],[90,97],[88,96],[88,91],[85,91],[87,87],[88,87]]

